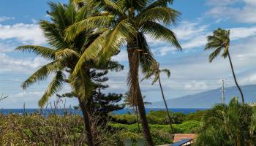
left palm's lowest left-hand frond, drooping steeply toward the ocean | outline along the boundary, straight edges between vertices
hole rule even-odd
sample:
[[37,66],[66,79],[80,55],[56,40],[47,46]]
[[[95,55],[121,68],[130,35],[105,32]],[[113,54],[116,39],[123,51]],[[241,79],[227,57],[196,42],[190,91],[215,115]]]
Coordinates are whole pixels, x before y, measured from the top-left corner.
[[48,102],[50,96],[53,96],[62,88],[64,80],[65,75],[60,71],[56,72],[56,76],[53,77],[42,98],[38,101],[39,107],[42,108]]

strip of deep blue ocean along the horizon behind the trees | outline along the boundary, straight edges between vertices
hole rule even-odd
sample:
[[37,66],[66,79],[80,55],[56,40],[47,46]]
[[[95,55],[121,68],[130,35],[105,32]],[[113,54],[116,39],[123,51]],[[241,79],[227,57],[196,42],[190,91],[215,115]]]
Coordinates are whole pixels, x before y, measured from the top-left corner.
[[[151,110],[153,111],[159,111],[159,110],[165,110],[163,108],[146,108],[146,113],[150,112]],[[172,112],[182,112],[184,114],[189,114],[191,112],[197,112],[197,110],[207,110],[207,109],[202,109],[202,108],[170,108],[169,109]],[[73,114],[73,115],[82,115],[82,112],[80,110],[75,110],[75,109],[59,109],[59,110],[51,110],[51,109],[43,109],[43,110],[38,110],[38,109],[0,109],[0,114],[3,115],[9,115],[9,114],[19,114],[22,115],[24,113],[26,114],[31,114],[34,112],[40,112],[42,115],[49,115],[52,113],[56,113],[57,115],[64,115],[65,113]],[[127,112],[132,113],[132,109],[123,109],[123,110],[116,110],[112,112],[115,115],[123,115],[126,114]]]

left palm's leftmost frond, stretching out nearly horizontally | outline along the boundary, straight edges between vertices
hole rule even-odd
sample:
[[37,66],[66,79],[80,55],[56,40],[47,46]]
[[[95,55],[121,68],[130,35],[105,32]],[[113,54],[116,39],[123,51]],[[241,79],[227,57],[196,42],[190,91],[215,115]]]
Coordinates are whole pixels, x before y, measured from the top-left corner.
[[55,53],[56,50],[53,50],[49,47],[42,47],[42,46],[37,46],[37,45],[23,45],[17,47],[15,50],[18,51],[23,51],[23,52],[28,52],[28,53],[35,53],[35,55],[40,55],[43,58],[47,59],[54,59],[55,58]]

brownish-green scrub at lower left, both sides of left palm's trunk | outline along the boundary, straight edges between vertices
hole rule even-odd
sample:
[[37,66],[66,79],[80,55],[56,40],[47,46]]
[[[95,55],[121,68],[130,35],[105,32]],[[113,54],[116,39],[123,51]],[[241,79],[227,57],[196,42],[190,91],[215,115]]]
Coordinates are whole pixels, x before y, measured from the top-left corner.
[[[79,115],[0,115],[0,145],[86,145],[83,118]],[[122,143],[118,131],[94,130],[96,145]]]

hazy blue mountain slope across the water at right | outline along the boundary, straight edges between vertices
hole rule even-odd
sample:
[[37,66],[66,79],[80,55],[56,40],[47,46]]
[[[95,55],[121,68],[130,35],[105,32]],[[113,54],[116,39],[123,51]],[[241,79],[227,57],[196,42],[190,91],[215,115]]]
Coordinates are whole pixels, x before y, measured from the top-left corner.
[[[256,101],[256,85],[241,86],[244,93],[244,100],[248,102]],[[225,103],[227,104],[234,96],[239,96],[236,86],[225,88]],[[241,101],[241,99],[239,99]],[[167,99],[167,105],[171,108],[209,108],[214,104],[222,102],[222,88],[211,91],[196,93],[193,95],[181,96],[176,99]],[[163,101],[153,102],[148,108],[163,108]]]

